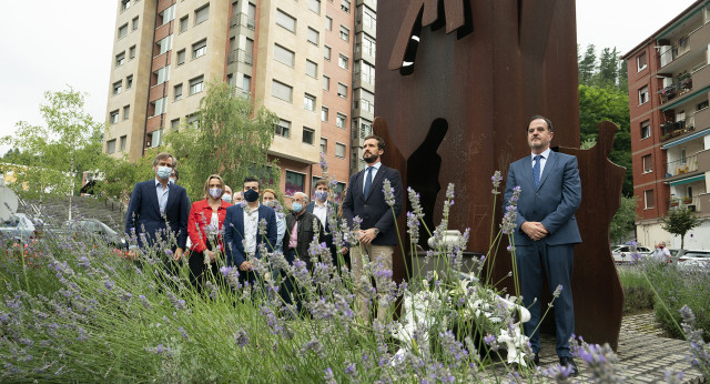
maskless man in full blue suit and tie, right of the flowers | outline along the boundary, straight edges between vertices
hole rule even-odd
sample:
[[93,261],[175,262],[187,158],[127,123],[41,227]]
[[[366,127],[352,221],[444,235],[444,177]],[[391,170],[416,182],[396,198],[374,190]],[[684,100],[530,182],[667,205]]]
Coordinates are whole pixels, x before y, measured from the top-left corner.
[[508,170],[505,204],[510,203],[514,188],[520,186],[520,196],[513,231],[516,263],[523,294],[523,303],[530,310],[531,319],[525,323],[539,364],[540,291],[542,273],[547,275],[550,291],[561,286],[555,299],[555,325],[557,355],[560,365],[577,375],[577,365],[569,351],[569,337],[575,331],[575,309],[570,285],[575,244],[581,243],[575,212],[581,203],[581,182],[577,158],[552,152],[552,122],[540,115],[532,117],[527,135],[531,154],[520,159]]

